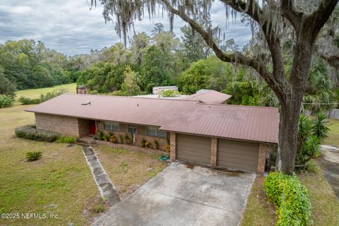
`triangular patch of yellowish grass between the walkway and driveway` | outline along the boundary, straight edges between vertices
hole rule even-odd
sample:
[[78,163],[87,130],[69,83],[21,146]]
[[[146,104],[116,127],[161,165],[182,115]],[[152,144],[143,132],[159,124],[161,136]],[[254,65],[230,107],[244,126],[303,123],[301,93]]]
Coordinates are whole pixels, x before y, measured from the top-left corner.
[[165,162],[158,160],[160,154],[156,153],[104,146],[94,149],[121,199],[132,194],[167,166]]

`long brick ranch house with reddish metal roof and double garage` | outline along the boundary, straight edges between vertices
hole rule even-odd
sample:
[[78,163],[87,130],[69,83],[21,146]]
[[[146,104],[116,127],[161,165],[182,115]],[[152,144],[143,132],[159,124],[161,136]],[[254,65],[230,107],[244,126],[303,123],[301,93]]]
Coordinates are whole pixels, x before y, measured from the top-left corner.
[[136,133],[170,145],[172,160],[263,172],[266,153],[278,143],[278,109],[105,95],[63,94],[35,105],[37,129],[69,136],[98,130],[117,137]]

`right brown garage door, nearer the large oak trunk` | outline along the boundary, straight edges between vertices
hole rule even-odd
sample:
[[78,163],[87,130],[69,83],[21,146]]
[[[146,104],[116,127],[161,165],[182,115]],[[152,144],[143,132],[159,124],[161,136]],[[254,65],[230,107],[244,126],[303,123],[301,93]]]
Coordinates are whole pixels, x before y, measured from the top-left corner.
[[256,171],[258,143],[218,139],[218,167]]

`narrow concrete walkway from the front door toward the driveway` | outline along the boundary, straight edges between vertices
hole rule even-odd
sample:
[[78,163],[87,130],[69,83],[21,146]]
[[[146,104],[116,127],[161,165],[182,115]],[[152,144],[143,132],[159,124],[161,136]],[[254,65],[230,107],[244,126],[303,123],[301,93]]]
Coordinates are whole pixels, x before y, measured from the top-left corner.
[[117,190],[109,179],[105,169],[102,167],[100,161],[97,159],[97,155],[93,148],[90,145],[85,145],[78,143],[83,150],[83,155],[85,156],[86,162],[90,166],[90,172],[92,172],[95,184],[100,191],[102,198],[109,204],[109,206],[114,206],[120,202],[119,195]]

